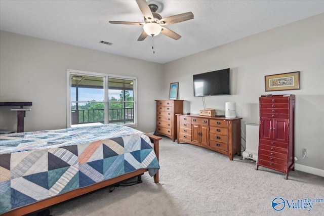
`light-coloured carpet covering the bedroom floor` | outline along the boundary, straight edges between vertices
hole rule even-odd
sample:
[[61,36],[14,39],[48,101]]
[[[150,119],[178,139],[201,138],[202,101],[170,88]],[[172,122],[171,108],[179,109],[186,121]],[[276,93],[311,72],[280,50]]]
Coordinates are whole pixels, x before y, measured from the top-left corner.
[[[285,174],[260,167],[255,162],[234,160],[223,154],[169,138],[160,141],[160,181],[148,174],[143,183],[105,188],[51,207],[56,215],[323,215],[324,202],[312,209],[281,211],[272,200],[324,199],[324,178],[291,171]],[[309,209],[309,208],[308,208]]]

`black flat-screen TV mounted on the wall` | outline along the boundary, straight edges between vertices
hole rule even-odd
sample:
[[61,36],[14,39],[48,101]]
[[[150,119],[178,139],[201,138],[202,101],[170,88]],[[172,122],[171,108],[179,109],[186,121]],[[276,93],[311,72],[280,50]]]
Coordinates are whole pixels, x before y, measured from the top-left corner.
[[193,95],[230,95],[229,68],[193,75]]

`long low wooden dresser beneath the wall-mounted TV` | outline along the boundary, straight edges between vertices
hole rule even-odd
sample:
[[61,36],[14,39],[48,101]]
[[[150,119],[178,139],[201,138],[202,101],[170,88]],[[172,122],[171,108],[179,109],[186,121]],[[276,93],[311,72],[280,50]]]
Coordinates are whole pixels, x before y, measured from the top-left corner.
[[190,143],[225,154],[240,156],[240,119],[177,114],[178,143]]

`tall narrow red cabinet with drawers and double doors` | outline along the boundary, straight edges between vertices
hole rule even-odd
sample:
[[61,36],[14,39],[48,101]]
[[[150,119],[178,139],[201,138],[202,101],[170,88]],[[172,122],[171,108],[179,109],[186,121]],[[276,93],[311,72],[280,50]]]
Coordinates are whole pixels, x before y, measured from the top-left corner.
[[264,166],[285,172],[294,170],[295,95],[261,96],[259,150],[256,169]]

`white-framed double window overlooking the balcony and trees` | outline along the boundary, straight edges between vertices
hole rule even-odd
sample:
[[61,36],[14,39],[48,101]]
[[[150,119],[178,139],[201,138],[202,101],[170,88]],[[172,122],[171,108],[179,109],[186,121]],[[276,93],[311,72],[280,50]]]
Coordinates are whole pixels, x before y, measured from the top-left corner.
[[67,70],[67,126],[137,124],[136,77]]

